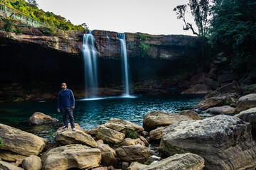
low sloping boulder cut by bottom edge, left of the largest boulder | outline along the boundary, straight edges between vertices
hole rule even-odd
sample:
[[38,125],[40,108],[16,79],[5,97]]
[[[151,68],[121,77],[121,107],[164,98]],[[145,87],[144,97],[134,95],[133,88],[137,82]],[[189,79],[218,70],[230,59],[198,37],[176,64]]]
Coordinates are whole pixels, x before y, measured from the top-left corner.
[[183,169],[183,170],[203,170],[204,160],[197,154],[174,154],[174,156],[162,159],[159,162],[150,164],[142,170],[169,170],[169,169]]

